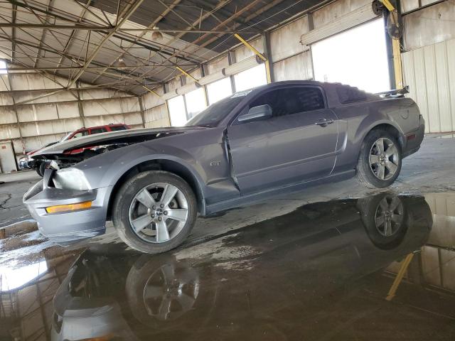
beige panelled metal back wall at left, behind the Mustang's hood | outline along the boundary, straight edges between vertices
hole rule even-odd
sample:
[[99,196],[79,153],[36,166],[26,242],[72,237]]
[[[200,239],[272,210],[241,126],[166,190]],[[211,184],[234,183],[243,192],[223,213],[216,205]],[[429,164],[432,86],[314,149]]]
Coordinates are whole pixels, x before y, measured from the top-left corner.
[[[126,123],[142,127],[139,97],[109,89],[60,91],[68,80],[36,72],[0,75],[0,141],[13,141],[16,154],[58,141],[82,126]],[[13,90],[10,92],[10,90]],[[31,100],[33,99],[33,100]]]

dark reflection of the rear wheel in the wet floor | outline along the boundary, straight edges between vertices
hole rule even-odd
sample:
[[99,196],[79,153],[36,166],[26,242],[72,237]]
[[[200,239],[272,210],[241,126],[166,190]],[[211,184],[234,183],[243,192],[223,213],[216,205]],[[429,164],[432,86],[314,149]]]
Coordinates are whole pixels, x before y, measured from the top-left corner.
[[368,237],[376,247],[390,250],[402,244],[409,215],[401,197],[380,193],[359,199],[357,208]]

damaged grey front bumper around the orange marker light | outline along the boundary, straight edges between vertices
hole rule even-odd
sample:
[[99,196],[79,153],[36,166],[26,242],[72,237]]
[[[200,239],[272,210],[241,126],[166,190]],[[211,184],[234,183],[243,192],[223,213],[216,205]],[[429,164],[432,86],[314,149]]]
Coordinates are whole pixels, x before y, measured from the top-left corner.
[[[43,180],[23,196],[23,203],[38,222],[40,232],[55,242],[77,242],[106,231],[107,204],[111,188],[68,190],[52,186],[55,171],[47,169]],[[91,202],[89,208],[48,213],[46,208]]]

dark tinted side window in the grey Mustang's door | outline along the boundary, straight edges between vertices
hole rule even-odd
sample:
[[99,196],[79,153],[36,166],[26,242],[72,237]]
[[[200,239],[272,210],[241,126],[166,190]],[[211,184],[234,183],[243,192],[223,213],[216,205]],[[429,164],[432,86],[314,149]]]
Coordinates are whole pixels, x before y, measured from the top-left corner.
[[269,104],[273,117],[325,108],[323,94],[318,87],[290,87],[266,92],[255,99],[250,108]]

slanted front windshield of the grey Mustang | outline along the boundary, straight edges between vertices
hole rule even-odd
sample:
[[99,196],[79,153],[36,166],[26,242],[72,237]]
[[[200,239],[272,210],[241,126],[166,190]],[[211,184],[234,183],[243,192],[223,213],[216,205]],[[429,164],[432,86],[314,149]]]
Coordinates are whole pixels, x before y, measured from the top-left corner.
[[228,98],[221,99],[190,119],[186,126],[216,126],[250,92],[251,90],[237,92]]

